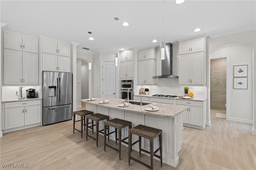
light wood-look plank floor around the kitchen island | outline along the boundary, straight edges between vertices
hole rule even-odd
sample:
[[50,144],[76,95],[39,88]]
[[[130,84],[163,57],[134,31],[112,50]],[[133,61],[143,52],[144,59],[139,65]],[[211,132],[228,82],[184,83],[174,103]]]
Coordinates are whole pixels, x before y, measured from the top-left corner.
[[[212,125],[204,130],[185,127],[180,163],[176,168],[154,160],[155,170],[255,170],[256,135],[250,133],[252,125],[215,118],[211,113]],[[79,122],[77,123],[79,127]],[[92,139],[81,139],[77,131],[73,134],[72,121],[48,126],[33,127],[6,133],[0,138],[1,163],[27,163],[20,169],[61,170],[146,170],[131,160],[128,166],[128,148],[122,146],[122,160],[110,148],[104,152],[103,137],[99,146]],[[111,141],[113,144],[113,142]],[[138,152],[132,155],[138,158]],[[149,157],[142,161],[149,164]],[[8,169],[2,168],[1,169]],[[9,168],[18,169],[18,168]]]

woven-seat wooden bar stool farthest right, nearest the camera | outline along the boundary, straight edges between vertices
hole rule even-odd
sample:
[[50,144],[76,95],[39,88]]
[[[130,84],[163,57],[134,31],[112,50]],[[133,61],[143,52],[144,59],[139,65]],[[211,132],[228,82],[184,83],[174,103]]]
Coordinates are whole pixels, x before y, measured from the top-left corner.
[[[131,151],[132,151],[132,134],[134,135],[138,135],[139,136],[139,149],[140,149],[140,156],[141,156],[141,151],[146,152],[148,154],[150,154],[150,166],[148,164],[145,164],[144,162],[141,162],[138,159],[135,159],[131,156]],[[148,127],[148,126],[144,126],[144,125],[138,125],[136,127],[133,127],[131,129],[129,129],[129,135],[128,135],[129,139],[128,139],[128,143],[129,143],[129,149],[128,149],[128,163],[130,165],[130,160],[134,160],[144,166],[146,166],[147,168],[153,170],[153,156],[156,156],[157,158],[159,158],[161,160],[161,166],[163,164],[162,162],[162,130],[160,129],[156,129],[153,127]],[[149,139],[149,143],[150,143],[150,152],[148,152],[147,150],[141,149],[141,137],[144,137],[146,139]],[[156,137],[159,137],[159,148],[156,149],[156,151],[154,151],[154,139]],[[158,152],[160,150],[160,156],[156,155],[156,152]]]

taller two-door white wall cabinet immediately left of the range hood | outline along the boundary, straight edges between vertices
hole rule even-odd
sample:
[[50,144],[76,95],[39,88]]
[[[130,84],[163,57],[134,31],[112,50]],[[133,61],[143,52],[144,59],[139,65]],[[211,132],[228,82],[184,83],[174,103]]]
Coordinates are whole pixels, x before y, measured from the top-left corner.
[[138,84],[156,84],[156,60],[138,61]]

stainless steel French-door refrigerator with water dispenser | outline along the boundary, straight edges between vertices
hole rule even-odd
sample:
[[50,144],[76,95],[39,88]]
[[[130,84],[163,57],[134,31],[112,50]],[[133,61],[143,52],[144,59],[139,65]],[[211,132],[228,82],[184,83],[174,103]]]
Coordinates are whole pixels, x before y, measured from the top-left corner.
[[43,125],[72,119],[72,73],[43,71]]

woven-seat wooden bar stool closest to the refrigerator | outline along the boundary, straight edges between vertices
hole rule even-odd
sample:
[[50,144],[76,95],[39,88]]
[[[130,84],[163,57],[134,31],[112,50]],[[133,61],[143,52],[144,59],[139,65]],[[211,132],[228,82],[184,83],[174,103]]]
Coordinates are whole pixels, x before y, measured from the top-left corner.
[[[84,125],[84,130],[86,127],[86,123],[85,123],[85,116],[86,115],[91,115],[93,114],[93,111],[88,111],[88,110],[80,110],[80,111],[74,111],[73,112],[73,133],[75,133],[75,130],[81,133],[81,138],[83,138],[83,125]],[[81,117],[80,120],[77,121],[81,121],[81,130],[76,129],[75,128],[75,123],[77,122],[76,119],[76,115],[79,115]],[[93,122],[90,122],[89,124],[92,123],[92,126],[89,126],[88,128],[92,129],[93,127]]]

